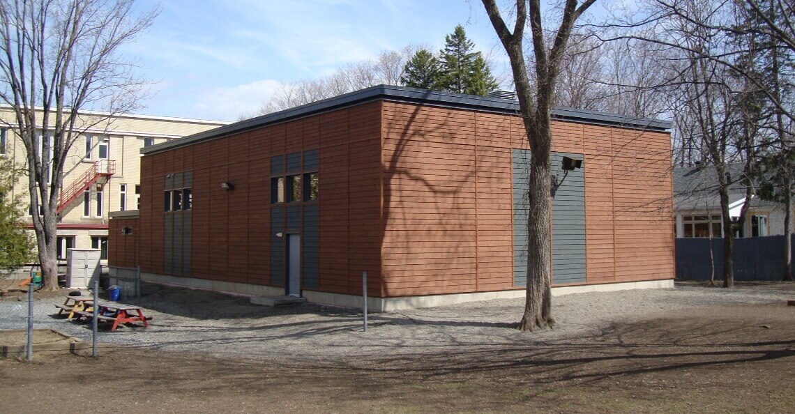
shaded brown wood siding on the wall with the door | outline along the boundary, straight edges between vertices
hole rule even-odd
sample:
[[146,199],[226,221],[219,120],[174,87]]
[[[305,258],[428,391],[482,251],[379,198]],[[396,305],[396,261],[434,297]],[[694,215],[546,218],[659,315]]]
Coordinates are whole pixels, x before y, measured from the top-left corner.
[[[164,274],[165,175],[192,171],[188,277],[270,284],[270,157],[320,154],[319,289],[380,293],[381,103],[336,110],[142,157],[142,271]],[[226,191],[228,181],[235,188]],[[120,231],[120,230],[119,230]]]

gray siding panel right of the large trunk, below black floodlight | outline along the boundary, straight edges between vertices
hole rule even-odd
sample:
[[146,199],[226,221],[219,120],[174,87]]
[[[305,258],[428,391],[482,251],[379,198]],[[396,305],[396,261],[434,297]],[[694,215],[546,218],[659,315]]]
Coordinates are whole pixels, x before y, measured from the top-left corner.
[[585,282],[585,168],[565,172],[563,157],[582,154],[552,153],[552,175],[558,179],[552,202],[553,283]]

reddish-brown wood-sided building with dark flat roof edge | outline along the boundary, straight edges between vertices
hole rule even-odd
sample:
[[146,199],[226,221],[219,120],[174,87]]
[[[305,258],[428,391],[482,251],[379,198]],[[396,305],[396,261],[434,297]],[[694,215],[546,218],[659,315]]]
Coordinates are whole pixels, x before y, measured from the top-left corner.
[[[584,228],[584,274],[574,284],[673,279],[666,129],[556,115],[553,152],[584,164],[583,184],[572,184],[584,194],[572,201],[572,211],[582,203]],[[319,269],[316,281],[301,281],[304,291],[358,295],[363,271],[376,297],[518,289],[512,172],[527,150],[513,103],[410,88],[374,87],[239,122],[144,151],[140,217],[112,220],[111,265],[283,288],[285,236],[302,234],[301,262],[316,257]],[[314,171],[312,154],[318,198],[271,203],[274,179]],[[190,209],[164,211],[169,185],[188,182]],[[122,237],[125,226],[134,237]],[[580,237],[572,234],[556,237]]]

